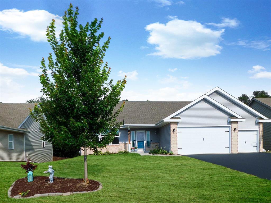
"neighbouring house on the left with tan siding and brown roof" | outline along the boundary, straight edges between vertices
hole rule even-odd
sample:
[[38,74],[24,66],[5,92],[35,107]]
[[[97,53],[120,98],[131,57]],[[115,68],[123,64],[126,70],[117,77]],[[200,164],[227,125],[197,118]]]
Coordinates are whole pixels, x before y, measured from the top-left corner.
[[0,161],[53,161],[53,146],[31,118],[35,104],[0,104]]

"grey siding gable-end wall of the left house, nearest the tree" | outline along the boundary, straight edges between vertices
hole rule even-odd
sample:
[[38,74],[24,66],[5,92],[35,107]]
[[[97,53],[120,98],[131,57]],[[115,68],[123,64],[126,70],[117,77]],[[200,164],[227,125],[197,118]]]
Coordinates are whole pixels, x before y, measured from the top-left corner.
[[42,147],[41,137],[44,135],[40,132],[40,124],[28,117],[21,128],[30,131],[28,135],[25,135],[25,154],[28,155],[27,159],[33,162],[53,161],[53,145],[45,141],[45,147]]

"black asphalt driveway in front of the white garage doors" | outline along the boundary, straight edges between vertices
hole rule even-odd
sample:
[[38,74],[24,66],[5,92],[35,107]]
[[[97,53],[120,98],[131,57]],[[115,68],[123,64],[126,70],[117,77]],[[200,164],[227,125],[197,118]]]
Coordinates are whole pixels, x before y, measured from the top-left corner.
[[271,180],[271,153],[184,155]]

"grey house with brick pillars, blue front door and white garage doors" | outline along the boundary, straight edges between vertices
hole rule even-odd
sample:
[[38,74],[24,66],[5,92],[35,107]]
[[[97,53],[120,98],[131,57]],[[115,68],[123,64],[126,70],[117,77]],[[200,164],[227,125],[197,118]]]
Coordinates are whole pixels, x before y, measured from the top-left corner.
[[174,154],[262,152],[263,123],[271,122],[219,87],[193,102],[125,102],[117,120],[123,125],[102,151],[159,146]]

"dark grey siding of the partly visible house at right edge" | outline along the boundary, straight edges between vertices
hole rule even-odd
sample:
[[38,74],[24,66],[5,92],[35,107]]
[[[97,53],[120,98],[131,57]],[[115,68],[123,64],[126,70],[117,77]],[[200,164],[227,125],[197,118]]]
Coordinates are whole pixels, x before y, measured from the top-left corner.
[[[270,108],[256,101],[252,101],[249,106],[267,118],[271,119]],[[271,123],[263,123],[263,149],[271,150]]]

